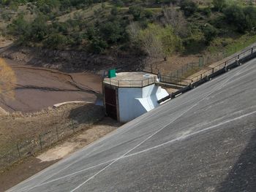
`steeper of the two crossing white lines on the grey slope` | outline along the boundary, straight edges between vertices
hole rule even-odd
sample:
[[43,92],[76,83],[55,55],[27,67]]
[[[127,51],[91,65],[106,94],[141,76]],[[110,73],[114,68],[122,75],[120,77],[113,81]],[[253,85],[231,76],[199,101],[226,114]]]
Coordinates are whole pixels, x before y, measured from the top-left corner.
[[[246,69],[248,66],[246,66],[244,69]],[[243,70],[244,70],[243,69]],[[76,188],[74,188],[72,191],[76,191],[78,188],[80,188],[82,185],[86,184],[87,182],[89,182],[89,180],[93,179],[94,177],[96,177],[99,173],[103,172],[105,169],[107,169],[109,166],[111,166],[112,164],[116,163],[116,161],[118,161],[119,159],[123,158],[125,155],[127,155],[128,153],[130,153],[132,150],[135,150],[135,148],[139,147],[140,145],[142,145],[144,142],[146,142],[148,139],[151,139],[151,137],[153,137],[154,135],[158,134],[160,131],[162,131],[164,128],[166,128],[167,126],[169,126],[171,123],[173,123],[174,121],[176,121],[178,118],[181,118],[181,116],[183,116],[184,114],[186,114],[187,112],[189,112],[189,110],[192,110],[192,108],[194,108],[195,106],[197,106],[197,104],[199,104],[201,101],[203,101],[204,99],[206,99],[209,95],[211,95],[211,93],[214,93],[215,91],[218,91],[219,89],[223,88],[225,86],[225,84],[231,80],[233,77],[236,77],[237,74],[239,74],[241,71],[243,70],[238,70],[238,72],[236,72],[236,74],[232,75],[231,77],[227,78],[227,80],[225,80],[224,82],[222,82],[222,84],[220,86],[217,86],[217,88],[213,89],[213,91],[211,91],[209,94],[207,94],[205,97],[203,97],[203,99],[201,99],[200,101],[197,101],[195,104],[192,105],[192,107],[189,107],[189,109],[185,110],[185,112],[182,112],[181,115],[178,115],[177,118],[174,118],[170,123],[168,123],[166,126],[163,126],[162,128],[159,128],[159,130],[157,130],[156,132],[154,132],[154,134],[151,134],[149,137],[147,137],[146,139],[144,139],[142,142],[140,142],[138,145],[136,145],[135,147],[132,147],[132,149],[128,150],[127,153],[124,153],[124,155],[121,155],[119,158],[117,158],[115,161],[113,161],[111,164],[109,164],[108,166],[105,166],[103,169],[101,169],[99,172],[97,172],[96,174],[94,174],[93,176],[91,176],[88,180],[84,181],[83,183],[81,183],[80,185],[78,185]]]

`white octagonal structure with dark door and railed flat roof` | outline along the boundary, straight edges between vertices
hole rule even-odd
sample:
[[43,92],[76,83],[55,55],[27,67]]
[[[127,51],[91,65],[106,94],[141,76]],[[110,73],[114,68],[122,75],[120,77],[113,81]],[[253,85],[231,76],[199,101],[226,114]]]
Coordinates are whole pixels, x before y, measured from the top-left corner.
[[156,74],[121,72],[103,81],[106,114],[120,122],[138,118],[159,106],[157,101],[167,96],[165,89],[155,85]]

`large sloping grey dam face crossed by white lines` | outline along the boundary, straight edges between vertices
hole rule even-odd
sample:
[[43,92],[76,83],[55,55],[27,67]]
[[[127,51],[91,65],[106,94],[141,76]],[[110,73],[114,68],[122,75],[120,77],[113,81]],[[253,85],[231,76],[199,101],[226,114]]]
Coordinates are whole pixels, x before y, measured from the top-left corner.
[[254,191],[256,60],[184,93],[10,191]]

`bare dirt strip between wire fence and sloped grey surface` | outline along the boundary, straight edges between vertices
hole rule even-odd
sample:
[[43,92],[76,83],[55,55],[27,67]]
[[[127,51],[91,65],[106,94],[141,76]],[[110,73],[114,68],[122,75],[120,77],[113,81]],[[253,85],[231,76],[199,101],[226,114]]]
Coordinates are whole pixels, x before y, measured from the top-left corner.
[[26,180],[42,169],[55,164],[57,161],[89,145],[91,142],[105,136],[105,134],[110,133],[121,125],[116,120],[104,118],[93,126],[79,131],[74,137],[70,137],[55,147],[46,150],[44,153],[36,157],[31,156],[30,158],[26,158],[25,161],[13,166],[7,172],[0,173],[0,192],[6,191],[8,188]]

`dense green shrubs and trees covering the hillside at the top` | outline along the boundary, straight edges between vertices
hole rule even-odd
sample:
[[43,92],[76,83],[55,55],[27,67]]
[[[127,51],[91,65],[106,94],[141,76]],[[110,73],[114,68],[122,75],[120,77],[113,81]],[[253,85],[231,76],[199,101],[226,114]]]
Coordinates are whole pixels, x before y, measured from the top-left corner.
[[167,59],[226,49],[244,34],[250,42],[256,33],[256,8],[244,1],[2,0],[0,7],[2,33],[18,44],[90,53],[136,49]]

